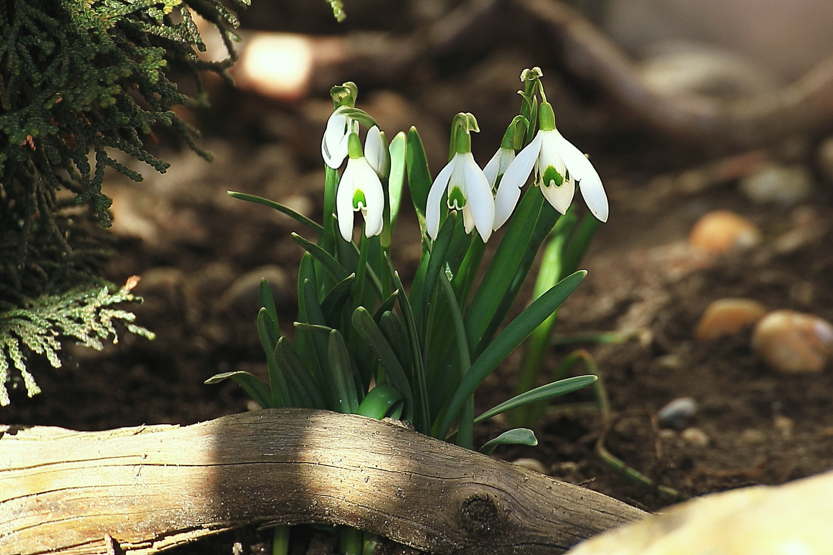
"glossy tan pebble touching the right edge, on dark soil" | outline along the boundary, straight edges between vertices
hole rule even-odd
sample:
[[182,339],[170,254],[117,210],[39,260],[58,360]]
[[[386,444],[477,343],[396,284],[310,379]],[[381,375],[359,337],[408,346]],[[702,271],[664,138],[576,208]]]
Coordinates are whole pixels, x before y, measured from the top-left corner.
[[833,325],[816,315],[775,310],[756,325],[752,349],[779,372],[821,372],[833,355]]

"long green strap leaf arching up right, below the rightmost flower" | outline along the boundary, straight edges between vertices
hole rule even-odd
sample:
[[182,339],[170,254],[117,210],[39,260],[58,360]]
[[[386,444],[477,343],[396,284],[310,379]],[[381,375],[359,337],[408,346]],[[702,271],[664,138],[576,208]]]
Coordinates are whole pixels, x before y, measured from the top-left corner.
[[526,336],[532,333],[538,325],[551,315],[559,306],[576,290],[576,287],[587,274],[585,270],[577,271],[559,281],[551,290],[527,306],[515,320],[512,320],[506,329],[491,341],[483,353],[471,364],[466,376],[461,380],[460,385],[454,392],[449,404],[441,410],[432,429],[431,435],[435,438],[443,438],[451,428],[451,423],[460,413],[466,399],[474,393],[483,380],[486,379],[501,360],[505,359]]

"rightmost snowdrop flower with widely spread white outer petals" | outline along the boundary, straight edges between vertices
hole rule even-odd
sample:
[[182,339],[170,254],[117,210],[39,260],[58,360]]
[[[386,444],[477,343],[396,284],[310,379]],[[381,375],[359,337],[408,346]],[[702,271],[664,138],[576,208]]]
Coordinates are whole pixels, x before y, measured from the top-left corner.
[[535,168],[535,184],[547,201],[564,214],[570,207],[576,182],[593,216],[607,221],[607,196],[601,178],[587,157],[556,130],[556,116],[549,102],[541,102],[539,130],[518,153],[503,174],[495,198],[497,229],[509,219],[521,197],[521,186]]

